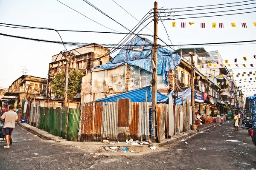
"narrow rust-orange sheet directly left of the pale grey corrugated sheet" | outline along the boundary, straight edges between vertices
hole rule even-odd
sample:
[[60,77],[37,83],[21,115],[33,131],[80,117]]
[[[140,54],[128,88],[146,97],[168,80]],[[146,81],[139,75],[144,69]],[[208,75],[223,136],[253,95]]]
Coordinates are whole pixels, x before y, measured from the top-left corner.
[[94,123],[93,123],[93,141],[102,140],[102,105],[103,102],[95,103]]

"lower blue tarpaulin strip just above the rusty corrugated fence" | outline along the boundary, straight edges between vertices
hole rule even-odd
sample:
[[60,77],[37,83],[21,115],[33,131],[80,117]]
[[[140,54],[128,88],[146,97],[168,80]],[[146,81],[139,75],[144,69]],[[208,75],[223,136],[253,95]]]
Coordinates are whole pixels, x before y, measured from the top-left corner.
[[[113,96],[108,96],[103,99],[98,99],[95,102],[117,102],[117,99],[131,99],[131,102],[145,102],[145,92],[147,92],[147,101],[152,102],[151,98],[151,86],[146,86],[144,88],[139,88],[133,91],[124,92],[122,94],[116,94]],[[173,91],[169,95],[172,95]],[[157,91],[157,103],[168,104],[169,95],[161,94]],[[178,98],[176,98],[176,105],[181,105],[183,97],[183,103],[186,103],[186,98],[191,100],[191,88],[186,89],[185,91],[178,92]],[[174,104],[174,100],[173,100]]]

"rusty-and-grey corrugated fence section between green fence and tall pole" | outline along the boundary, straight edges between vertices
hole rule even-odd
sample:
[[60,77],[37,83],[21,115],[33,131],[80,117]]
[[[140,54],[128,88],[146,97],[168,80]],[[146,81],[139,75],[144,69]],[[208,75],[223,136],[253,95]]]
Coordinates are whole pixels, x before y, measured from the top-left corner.
[[148,140],[149,106],[146,102],[91,102],[82,105],[79,141]]

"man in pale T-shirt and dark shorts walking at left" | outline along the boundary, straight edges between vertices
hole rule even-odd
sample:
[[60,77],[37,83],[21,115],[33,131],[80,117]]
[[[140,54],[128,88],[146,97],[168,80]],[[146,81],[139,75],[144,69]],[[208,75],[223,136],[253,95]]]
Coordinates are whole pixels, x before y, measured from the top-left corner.
[[10,141],[10,144],[12,144],[12,130],[15,127],[15,122],[17,122],[17,119],[18,119],[17,113],[13,110],[14,110],[14,106],[10,105],[9,111],[3,113],[3,115],[0,118],[0,120],[4,119],[2,134],[5,135],[6,143],[7,143],[7,145],[4,146],[3,148],[10,148],[9,141]]

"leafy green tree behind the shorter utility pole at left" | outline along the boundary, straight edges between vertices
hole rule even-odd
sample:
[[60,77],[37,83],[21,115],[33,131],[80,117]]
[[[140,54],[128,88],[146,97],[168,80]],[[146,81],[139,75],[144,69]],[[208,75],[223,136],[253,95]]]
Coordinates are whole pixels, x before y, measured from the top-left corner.
[[[69,71],[70,72],[70,71]],[[69,74],[68,86],[67,86],[67,98],[73,100],[77,94],[79,88],[81,88],[81,82],[84,74],[81,71],[73,70]],[[65,74],[59,72],[52,80],[52,89],[55,91],[56,96],[64,97],[65,89]]]

